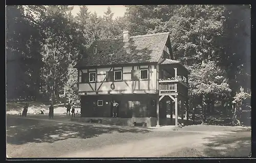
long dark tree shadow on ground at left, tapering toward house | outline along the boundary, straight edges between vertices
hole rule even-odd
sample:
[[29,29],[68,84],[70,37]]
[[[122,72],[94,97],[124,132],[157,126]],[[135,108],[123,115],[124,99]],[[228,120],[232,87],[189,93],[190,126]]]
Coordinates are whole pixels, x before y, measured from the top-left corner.
[[7,118],[7,143],[53,143],[68,138],[88,139],[111,132],[146,133],[147,129],[120,128],[116,126],[94,126],[40,121],[25,118]]

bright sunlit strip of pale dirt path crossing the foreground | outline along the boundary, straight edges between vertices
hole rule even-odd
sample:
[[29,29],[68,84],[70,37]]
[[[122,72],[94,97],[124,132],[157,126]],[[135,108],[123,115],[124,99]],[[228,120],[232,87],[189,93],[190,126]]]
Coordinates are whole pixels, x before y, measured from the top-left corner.
[[152,138],[126,144],[105,146],[100,149],[73,152],[60,157],[159,157],[187,147],[200,147],[220,132],[207,132],[201,135],[185,135],[175,138]]

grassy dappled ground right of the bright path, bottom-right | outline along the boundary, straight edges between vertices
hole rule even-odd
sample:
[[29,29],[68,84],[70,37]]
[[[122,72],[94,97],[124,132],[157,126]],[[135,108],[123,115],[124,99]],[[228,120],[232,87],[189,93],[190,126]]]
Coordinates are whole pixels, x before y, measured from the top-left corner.
[[207,143],[198,147],[185,147],[163,157],[249,157],[251,131],[239,130],[204,138]]

